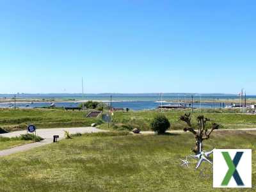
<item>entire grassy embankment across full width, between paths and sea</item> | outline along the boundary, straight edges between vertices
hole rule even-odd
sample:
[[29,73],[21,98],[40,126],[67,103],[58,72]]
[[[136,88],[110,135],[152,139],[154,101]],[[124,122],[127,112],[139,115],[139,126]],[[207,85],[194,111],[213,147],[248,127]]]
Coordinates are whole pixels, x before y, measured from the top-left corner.
[[[185,124],[179,121],[179,116],[188,113],[190,110],[164,111],[164,115],[170,120],[171,129],[183,129]],[[234,113],[228,109],[205,109],[195,110],[193,117],[205,115],[212,122],[221,124],[222,129],[255,128],[256,115]],[[51,127],[81,127],[90,126],[92,123],[102,123],[100,118],[86,118],[89,111],[65,111],[64,109],[0,109],[0,128],[6,131],[17,131],[26,129],[28,124],[35,124],[38,128]],[[152,111],[129,111],[115,112],[111,129],[131,130],[138,127],[141,130],[149,130],[149,122],[154,115],[159,113]],[[196,124],[195,118],[193,123]],[[210,123],[208,125],[211,125]],[[100,128],[107,129],[108,124],[100,125]]]

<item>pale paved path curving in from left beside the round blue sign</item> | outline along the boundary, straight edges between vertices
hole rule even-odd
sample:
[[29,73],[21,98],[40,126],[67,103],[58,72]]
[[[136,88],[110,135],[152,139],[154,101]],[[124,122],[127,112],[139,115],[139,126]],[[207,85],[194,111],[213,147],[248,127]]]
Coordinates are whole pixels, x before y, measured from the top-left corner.
[[[43,141],[36,142],[36,143],[29,143],[29,144],[26,144],[26,145],[21,145],[19,147],[8,148],[8,149],[5,149],[5,150],[0,150],[0,156],[8,156],[10,154],[14,154],[14,153],[17,153],[17,152],[23,152],[23,151],[29,150],[31,148],[40,147],[42,145],[52,143],[53,135],[59,135],[60,140],[61,140],[65,136],[65,133],[64,133],[63,130],[70,132],[70,134],[75,134],[77,132],[80,132],[80,133],[104,132],[104,130],[97,129],[95,127],[37,129],[36,130],[36,135],[44,138]],[[11,138],[11,137],[20,136],[20,134],[26,134],[26,133],[27,133],[27,131],[13,131],[13,132],[0,134],[0,136]]]

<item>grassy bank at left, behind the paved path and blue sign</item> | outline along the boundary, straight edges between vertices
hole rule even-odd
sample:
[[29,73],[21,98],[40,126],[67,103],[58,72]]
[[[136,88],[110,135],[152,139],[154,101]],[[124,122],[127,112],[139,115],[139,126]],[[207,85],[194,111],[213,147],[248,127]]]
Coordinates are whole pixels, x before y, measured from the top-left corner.
[[28,124],[38,128],[90,126],[97,118],[86,118],[89,111],[64,109],[0,109],[0,127],[6,131],[26,129]]

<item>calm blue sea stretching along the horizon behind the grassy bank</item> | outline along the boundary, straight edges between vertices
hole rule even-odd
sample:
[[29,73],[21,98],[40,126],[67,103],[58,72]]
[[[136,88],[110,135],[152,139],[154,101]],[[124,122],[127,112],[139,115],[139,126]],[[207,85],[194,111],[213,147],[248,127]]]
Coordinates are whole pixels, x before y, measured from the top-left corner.
[[[10,94],[0,94],[0,98],[12,98],[13,95]],[[34,99],[75,99],[82,100],[81,94],[18,94],[17,98],[34,98]],[[196,94],[193,93],[195,100],[200,100],[200,103],[195,103],[195,108],[220,108],[223,107],[223,104],[220,103],[209,103],[204,102],[204,100],[219,100],[219,99],[239,99],[237,95],[226,95],[226,94]],[[249,95],[247,98],[256,99],[256,95]],[[103,102],[109,102],[110,94],[86,94],[86,100],[102,100]],[[161,100],[161,97],[157,93],[145,93],[145,94],[112,94],[112,106],[114,108],[129,108],[133,110],[141,109],[155,109],[157,106],[161,105],[157,100]],[[191,102],[191,93],[164,93],[162,97],[164,102],[163,104],[176,104],[173,103],[173,100],[180,100],[182,103]],[[79,105],[77,101],[68,101],[68,102],[55,102],[57,107],[76,107]],[[44,106],[49,106],[49,102],[34,102],[31,103],[17,103],[17,108],[41,108]],[[225,103],[230,105],[230,103]],[[0,108],[13,108],[11,103],[0,103]]]

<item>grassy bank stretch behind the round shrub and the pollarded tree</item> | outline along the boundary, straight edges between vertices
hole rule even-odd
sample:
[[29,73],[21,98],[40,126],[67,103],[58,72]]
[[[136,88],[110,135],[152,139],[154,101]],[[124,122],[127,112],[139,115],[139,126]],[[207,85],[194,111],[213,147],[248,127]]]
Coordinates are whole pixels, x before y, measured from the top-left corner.
[[[186,124],[179,120],[180,115],[189,113],[190,110],[173,110],[164,111],[163,114],[169,119],[171,129],[183,129]],[[115,112],[113,117],[113,129],[132,129],[133,127],[141,130],[150,129],[150,121],[159,111],[129,111],[128,113]],[[196,116],[204,115],[211,119],[211,122],[216,122],[223,129],[236,128],[256,128],[256,115],[247,115],[241,113],[192,113],[193,124],[196,125]],[[211,122],[208,125],[211,125]],[[102,125],[102,128],[107,128],[107,125]]]

